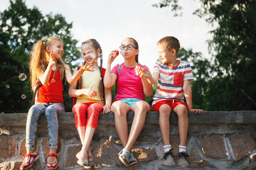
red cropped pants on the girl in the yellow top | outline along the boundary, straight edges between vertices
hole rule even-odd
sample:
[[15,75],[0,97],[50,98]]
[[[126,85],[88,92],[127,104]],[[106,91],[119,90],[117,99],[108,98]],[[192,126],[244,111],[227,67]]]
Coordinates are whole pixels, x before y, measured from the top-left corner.
[[[80,126],[97,129],[97,120],[102,111],[102,103],[77,103],[72,111],[75,115],[75,128]],[[87,112],[87,120],[86,120]]]

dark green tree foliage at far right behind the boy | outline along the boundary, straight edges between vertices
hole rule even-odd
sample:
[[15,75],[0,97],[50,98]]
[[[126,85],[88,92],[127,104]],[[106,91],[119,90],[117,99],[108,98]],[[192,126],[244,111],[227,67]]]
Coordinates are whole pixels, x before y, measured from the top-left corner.
[[[165,6],[168,5],[158,7]],[[213,76],[205,80],[196,77],[192,84],[193,93],[195,89],[201,91],[204,98],[199,103],[203,102],[201,106],[209,111],[255,110],[256,1],[201,0],[201,8],[195,14],[205,17],[210,24],[218,24],[210,31],[213,40],[208,40],[209,52],[214,54],[213,64],[198,62],[199,67],[206,64],[198,72],[206,74],[199,77],[209,76],[209,73]],[[198,98],[195,100],[193,94],[194,101],[198,106]]]

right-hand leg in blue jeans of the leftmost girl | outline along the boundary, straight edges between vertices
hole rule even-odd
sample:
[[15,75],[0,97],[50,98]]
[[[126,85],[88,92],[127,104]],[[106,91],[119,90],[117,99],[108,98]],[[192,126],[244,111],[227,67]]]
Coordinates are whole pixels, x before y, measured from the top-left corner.
[[[50,137],[50,153],[56,154],[58,148],[58,113],[65,112],[62,103],[53,103],[46,108],[46,118],[48,122],[48,132]],[[49,157],[49,162],[53,162],[55,157]]]

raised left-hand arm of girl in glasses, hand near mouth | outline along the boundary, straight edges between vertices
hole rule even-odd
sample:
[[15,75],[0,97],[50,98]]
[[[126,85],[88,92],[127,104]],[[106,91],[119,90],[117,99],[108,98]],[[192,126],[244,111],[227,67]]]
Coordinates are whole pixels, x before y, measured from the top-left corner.
[[117,50],[113,50],[110,52],[110,55],[107,60],[107,68],[105,72],[105,78],[104,78],[104,86],[105,88],[111,88],[115,81],[117,80],[117,75],[114,73],[111,73],[111,64],[114,61],[114,59],[117,57],[116,55]]

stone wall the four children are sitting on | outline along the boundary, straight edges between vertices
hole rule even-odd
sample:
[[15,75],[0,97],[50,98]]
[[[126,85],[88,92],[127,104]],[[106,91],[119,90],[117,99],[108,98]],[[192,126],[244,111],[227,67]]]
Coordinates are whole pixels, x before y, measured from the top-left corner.
[[[128,113],[129,125],[133,114]],[[18,169],[23,161],[26,115],[0,114],[0,170]],[[81,144],[74,115],[60,113],[58,119],[58,169],[83,169],[75,158]],[[186,169],[256,169],[256,111],[204,112],[200,115],[190,112],[188,120],[187,151],[191,164]],[[175,113],[171,113],[170,132],[176,159],[179,138]],[[47,121],[42,115],[35,145],[40,158],[32,169],[46,169],[48,141]],[[147,113],[144,129],[132,150],[139,164],[125,167],[117,155],[122,145],[114,128],[114,114],[100,114],[91,144],[94,169],[169,169],[162,164],[162,147],[159,113]]]

